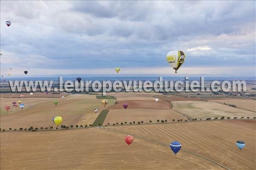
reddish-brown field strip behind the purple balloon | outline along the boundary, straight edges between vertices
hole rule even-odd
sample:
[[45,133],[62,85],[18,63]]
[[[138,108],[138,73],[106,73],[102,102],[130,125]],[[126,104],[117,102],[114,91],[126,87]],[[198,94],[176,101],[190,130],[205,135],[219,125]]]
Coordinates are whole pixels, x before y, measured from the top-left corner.
[[165,101],[158,101],[155,102],[154,100],[148,101],[148,100],[138,100],[138,101],[118,101],[117,104],[115,104],[112,107],[108,107],[108,109],[124,109],[123,104],[128,104],[128,109],[172,109],[172,106],[170,103]]

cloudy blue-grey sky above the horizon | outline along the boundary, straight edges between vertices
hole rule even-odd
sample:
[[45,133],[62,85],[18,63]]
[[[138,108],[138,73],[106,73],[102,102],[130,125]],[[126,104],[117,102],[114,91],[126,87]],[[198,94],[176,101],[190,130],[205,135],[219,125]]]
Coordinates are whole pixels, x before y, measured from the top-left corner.
[[255,1],[0,1],[1,75],[173,76],[166,54],[182,50],[178,76],[254,77],[255,14]]

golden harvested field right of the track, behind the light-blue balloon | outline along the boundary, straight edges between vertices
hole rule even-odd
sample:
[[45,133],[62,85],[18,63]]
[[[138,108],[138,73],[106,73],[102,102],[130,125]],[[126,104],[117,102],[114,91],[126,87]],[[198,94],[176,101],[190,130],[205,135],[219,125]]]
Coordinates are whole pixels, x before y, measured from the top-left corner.
[[[256,169],[256,120],[200,121],[111,128],[165,144],[180,141],[182,149],[211,158],[232,170]],[[246,142],[243,150],[236,147],[237,140]],[[180,151],[177,156],[180,153],[183,152]]]

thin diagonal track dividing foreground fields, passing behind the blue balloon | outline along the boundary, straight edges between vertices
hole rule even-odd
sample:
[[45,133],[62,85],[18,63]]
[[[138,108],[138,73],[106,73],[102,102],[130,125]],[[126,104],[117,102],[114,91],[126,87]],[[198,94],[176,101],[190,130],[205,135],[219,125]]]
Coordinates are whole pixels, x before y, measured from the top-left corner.
[[[108,128],[104,128],[104,129],[108,129]],[[108,130],[109,130],[109,129],[108,129]],[[126,133],[126,132],[122,132],[122,131],[120,131],[120,130],[111,130],[111,131],[115,131],[115,132],[122,133],[122,134],[126,134],[126,135],[133,135],[133,136],[135,136],[135,137],[137,137],[137,138],[140,138],[140,139],[144,139],[144,140],[151,141],[151,142],[154,142],[154,143],[163,145],[163,146],[170,147],[169,144],[164,144],[164,143],[161,143],[161,142],[159,142],[159,141],[154,141],[154,140],[152,140],[152,139],[145,138],[145,137],[142,137],[142,136],[138,136],[138,135],[135,135],[135,134],[132,134],[132,133]],[[218,163],[218,162],[216,162],[216,161],[214,161],[214,160],[212,160],[212,159],[210,159],[210,158],[207,158],[207,157],[205,157],[205,156],[199,155],[199,154],[197,154],[197,153],[193,153],[193,152],[188,151],[188,150],[182,150],[182,149],[181,149],[181,151],[186,152],[186,153],[190,153],[190,154],[192,154],[192,155],[195,155],[195,156],[198,156],[198,157],[201,157],[201,158],[204,158],[204,159],[207,159],[208,161],[211,161],[211,162],[213,162],[213,163],[215,163],[215,164],[218,164],[219,166],[225,168],[226,170],[231,170],[230,168],[224,166],[223,164],[220,164],[220,163]]]

